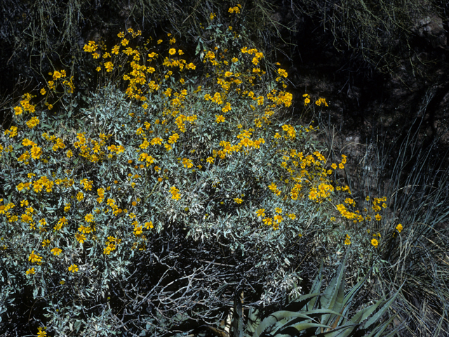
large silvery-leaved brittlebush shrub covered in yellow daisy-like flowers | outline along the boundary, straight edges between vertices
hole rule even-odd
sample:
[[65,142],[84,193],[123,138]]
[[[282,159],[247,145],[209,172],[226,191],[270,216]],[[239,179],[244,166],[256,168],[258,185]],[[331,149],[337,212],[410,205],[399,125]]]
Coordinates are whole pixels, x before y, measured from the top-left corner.
[[22,317],[46,326],[39,336],[170,334],[224,319],[236,286],[259,305],[279,300],[311,246],[335,252],[355,236],[373,256],[360,228],[380,199],[355,211],[333,179],[346,157],[328,163],[316,128],[285,117],[288,72],[232,27],[209,27],[220,46],[200,39],[196,57],[170,34],[137,46],[128,29],[109,51],[90,41],[104,86],[88,108],[70,105],[63,70],[13,107],[1,136],[2,329]]

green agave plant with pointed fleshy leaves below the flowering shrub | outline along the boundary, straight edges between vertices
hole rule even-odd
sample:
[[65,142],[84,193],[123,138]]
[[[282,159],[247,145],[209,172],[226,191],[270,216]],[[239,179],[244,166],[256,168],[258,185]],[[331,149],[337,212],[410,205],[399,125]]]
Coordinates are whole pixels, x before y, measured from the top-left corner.
[[[234,300],[234,317],[232,322],[232,333],[234,337],[262,337],[262,336],[320,336],[320,337],[347,337],[367,336],[386,337],[393,336],[397,329],[387,331],[389,324],[393,321],[391,317],[380,322],[380,319],[394,301],[397,294],[389,299],[386,296],[368,308],[363,308],[348,317],[356,293],[366,282],[369,273],[348,293],[344,293],[344,265],[347,256],[340,264],[337,274],[332,279],[326,291],[320,293],[323,281],[323,263],[321,263],[319,274],[314,280],[310,293],[293,300],[286,310],[273,312],[268,317],[260,319],[259,311],[250,309],[248,322],[243,329],[243,309],[241,300]],[[224,331],[211,329],[215,335],[229,336]]]

